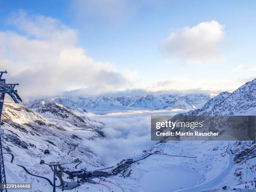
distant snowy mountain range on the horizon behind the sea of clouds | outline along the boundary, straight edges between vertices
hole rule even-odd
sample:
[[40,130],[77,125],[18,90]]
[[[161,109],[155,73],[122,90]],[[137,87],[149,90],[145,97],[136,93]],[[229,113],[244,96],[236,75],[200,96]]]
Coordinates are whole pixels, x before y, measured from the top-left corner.
[[[123,97],[58,97],[49,100],[55,101],[68,109],[79,112],[87,110],[131,110],[131,109],[197,109],[201,108],[210,97],[205,94],[190,95],[147,95]],[[44,99],[43,99],[44,100]],[[30,101],[30,104],[41,100]]]

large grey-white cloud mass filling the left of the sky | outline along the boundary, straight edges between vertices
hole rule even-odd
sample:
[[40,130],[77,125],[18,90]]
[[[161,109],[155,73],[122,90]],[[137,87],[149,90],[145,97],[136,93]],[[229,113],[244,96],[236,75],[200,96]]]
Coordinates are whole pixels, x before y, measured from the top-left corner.
[[21,96],[54,96],[79,88],[84,95],[100,94],[131,86],[133,79],[112,63],[86,56],[75,44],[76,30],[59,20],[20,11],[9,23],[19,32],[0,32],[0,68],[8,71],[8,82],[20,83]]

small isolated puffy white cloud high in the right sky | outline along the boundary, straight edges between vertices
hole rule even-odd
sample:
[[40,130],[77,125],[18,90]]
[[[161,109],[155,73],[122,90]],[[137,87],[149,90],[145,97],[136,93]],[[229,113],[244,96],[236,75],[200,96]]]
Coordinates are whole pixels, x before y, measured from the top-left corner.
[[215,20],[173,31],[164,41],[171,60],[186,63],[215,61],[219,57],[218,45],[223,38],[223,25]]

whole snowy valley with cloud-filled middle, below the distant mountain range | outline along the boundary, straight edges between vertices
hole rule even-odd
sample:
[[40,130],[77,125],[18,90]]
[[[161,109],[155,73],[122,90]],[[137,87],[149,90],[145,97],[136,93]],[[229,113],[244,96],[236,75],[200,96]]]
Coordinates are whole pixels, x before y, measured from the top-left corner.
[[[59,162],[57,191],[221,191],[224,185],[250,181],[255,179],[255,141],[150,141],[150,115],[251,114],[255,84],[220,93],[192,111],[140,108],[99,114],[66,100],[65,106],[57,99],[37,100],[27,103],[28,109],[6,103],[1,126],[8,182],[32,183],[33,192],[51,191],[50,162]],[[250,94],[240,91],[245,86]]]

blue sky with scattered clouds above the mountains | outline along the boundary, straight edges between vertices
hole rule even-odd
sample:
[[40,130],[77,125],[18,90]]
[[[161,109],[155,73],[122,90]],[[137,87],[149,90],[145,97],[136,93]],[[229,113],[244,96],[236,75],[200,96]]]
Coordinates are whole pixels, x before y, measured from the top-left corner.
[[[81,76],[77,81],[68,82],[63,79],[61,88],[56,88],[57,85],[53,83],[49,95],[69,91],[82,95],[116,91],[127,94],[126,90],[134,94],[138,90],[211,94],[233,91],[256,77],[255,10],[255,1],[0,0],[2,41],[5,39],[6,43],[8,38],[12,41],[13,37],[6,37],[11,32],[18,35],[20,40],[26,38],[28,51],[38,49],[31,56],[31,52],[24,53],[22,46],[18,48],[17,43],[6,46],[2,43],[4,53],[1,57],[12,66],[10,71],[15,66],[23,66],[23,70],[20,69],[15,72],[15,76],[10,77],[17,81],[29,73],[26,78],[31,82],[31,78],[38,76],[42,68],[63,70],[63,74],[67,74],[67,71],[62,68],[67,67],[75,71],[85,70],[81,74],[74,73],[74,78]],[[38,23],[38,17],[44,19],[41,18]],[[54,19],[54,24],[47,18]],[[44,34],[42,38],[42,34],[31,32],[35,27],[41,28],[42,33],[45,30],[45,33],[50,31],[52,34],[56,31],[62,34],[69,30],[72,34],[74,32],[71,39],[75,40],[69,42],[61,39],[56,43],[56,36],[46,37]],[[70,36],[67,38],[70,39]],[[69,58],[67,63],[61,63],[62,60],[55,58],[56,61],[45,61],[44,66],[37,64],[34,58],[44,58],[48,52],[40,47],[45,51],[44,55],[40,55],[39,45],[34,45],[31,40],[49,45],[58,44],[54,48],[56,54],[65,52],[69,55],[67,50],[70,53],[82,50],[83,56],[96,62],[90,63],[97,66],[92,71],[93,76],[87,75],[93,83],[88,83],[86,79],[82,82],[82,76],[87,72],[84,66],[88,67],[88,61],[84,60],[80,52],[79,61],[79,56],[75,57],[73,53],[74,58]],[[65,43],[61,42],[60,46],[60,41]],[[18,52],[14,54],[13,50]],[[21,51],[22,57],[16,56]],[[54,51],[48,51],[50,58]],[[76,65],[72,64],[73,60],[77,62]],[[108,75],[102,75],[99,72],[101,69]],[[50,77],[54,81],[53,76],[54,73],[41,74],[42,78]],[[95,84],[95,81],[104,82],[104,87],[101,87],[102,83]],[[38,91],[31,94],[45,94]]]

